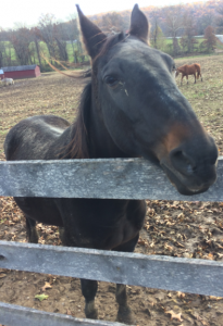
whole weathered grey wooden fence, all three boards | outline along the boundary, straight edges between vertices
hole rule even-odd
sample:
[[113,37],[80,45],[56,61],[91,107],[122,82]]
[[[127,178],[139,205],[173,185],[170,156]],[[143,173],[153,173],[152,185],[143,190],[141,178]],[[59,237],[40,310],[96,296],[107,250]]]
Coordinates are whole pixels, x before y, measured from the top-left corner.
[[[0,163],[0,196],[223,201],[223,158],[205,193],[179,195],[164,173],[141,159]],[[0,267],[223,297],[223,263],[0,241]],[[9,326],[121,325],[0,303]]]

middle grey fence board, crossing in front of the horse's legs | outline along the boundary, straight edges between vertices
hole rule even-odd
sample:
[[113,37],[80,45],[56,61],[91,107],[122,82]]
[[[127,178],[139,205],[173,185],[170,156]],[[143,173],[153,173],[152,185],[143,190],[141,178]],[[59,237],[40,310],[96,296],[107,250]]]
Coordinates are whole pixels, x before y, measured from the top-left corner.
[[0,267],[223,297],[223,263],[0,241]]

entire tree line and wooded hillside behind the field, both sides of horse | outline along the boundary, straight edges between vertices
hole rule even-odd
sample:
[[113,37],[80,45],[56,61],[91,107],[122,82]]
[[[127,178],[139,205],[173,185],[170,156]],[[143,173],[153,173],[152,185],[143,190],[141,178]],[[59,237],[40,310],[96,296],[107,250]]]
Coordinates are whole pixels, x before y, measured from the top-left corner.
[[[213,51],[214,34],[223,34],[223,0],[195,2],[163,8],[147,7],[143,11],[150,22],[150,43],[173,57]],[[127,33],[131,11],[94,15],[90,18],[104,33]],[[205,35],[199,41],[196,36]],[[166,38],[170,37],[171,39]],[[14,57],[13,57],[14,54]],[[76,65],[87,60],[83,50],[76,16],[57,22],[52,14],[41,15],[37,26],[4,30],[0,27],[0,67],[38,64],[49,68],[48,60]]]

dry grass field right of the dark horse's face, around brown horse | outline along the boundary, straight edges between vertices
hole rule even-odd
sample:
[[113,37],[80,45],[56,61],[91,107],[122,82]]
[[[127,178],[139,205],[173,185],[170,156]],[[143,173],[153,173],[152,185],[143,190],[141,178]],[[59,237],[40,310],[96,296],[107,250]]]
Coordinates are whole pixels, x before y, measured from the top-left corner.
[[194,76],[189,76],[188,85],[184,78],[183,86],[179,86],[181,77],[176,83],[223,154],[223,55],[178,59],[176,66],[196,62],[201,65],[203,82],[198,79],[194,84]]

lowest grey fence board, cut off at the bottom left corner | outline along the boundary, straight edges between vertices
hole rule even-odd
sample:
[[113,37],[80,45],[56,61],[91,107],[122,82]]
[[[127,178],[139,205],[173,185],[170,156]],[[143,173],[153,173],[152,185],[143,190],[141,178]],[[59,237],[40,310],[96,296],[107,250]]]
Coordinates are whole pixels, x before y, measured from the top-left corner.
[[10,326],[124,326],[124,324],[80,319],[0,302],[0,324]]

